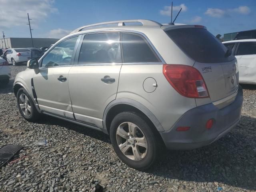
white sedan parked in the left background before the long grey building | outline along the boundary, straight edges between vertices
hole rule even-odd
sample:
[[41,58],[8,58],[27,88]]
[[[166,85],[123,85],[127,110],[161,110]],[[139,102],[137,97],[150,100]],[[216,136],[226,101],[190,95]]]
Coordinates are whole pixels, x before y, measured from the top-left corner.
[[28,48],[8,49],[4,52],[3,58],[10,64],[16,65],[20,62],[27,62],[31,59],[31,51]]

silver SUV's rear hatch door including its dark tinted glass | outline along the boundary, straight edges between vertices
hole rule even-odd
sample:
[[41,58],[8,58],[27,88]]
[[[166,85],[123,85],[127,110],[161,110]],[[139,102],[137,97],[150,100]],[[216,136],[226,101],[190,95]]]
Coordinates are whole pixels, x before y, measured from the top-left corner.
[[190,58],[203,76],[210,101],[226,98],[238,90],[236,58],[204,26],[183,25],[166,30],[170,38]]

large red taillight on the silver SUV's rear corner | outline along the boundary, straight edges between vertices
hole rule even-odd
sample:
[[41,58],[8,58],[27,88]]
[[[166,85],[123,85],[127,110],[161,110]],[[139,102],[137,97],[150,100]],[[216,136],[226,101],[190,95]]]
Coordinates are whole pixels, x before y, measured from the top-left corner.
[[172,87],[189,98],[206,98],[209,93],[200,72],[187,65],[164,64],[163,73]]

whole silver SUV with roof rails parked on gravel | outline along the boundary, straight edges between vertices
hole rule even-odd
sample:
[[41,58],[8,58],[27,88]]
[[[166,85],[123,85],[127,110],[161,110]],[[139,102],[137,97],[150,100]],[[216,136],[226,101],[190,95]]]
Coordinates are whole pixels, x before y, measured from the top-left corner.
[[26,120],[48,114],[101,130],[136,169],[149,168],[164,147],[211,144],[241,115],[236,58],[200,25],[83,26],[27,66],[14,82]]

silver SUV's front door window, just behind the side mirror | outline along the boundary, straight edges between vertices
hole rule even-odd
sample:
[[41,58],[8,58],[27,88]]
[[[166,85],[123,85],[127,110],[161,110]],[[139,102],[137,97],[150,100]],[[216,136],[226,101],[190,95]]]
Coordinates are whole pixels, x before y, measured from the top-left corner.
[[77,37],[70,38],[54,47],[42,60],[42,67],[70,65]]

